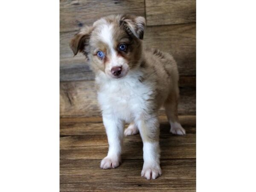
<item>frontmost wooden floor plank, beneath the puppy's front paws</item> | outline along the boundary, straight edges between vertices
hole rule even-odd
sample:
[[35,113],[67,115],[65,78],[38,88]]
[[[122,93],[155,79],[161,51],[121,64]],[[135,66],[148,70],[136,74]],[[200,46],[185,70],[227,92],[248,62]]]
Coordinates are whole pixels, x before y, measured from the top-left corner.
[[60,191],[170,191],[196,189],[196,160],[161,160],[163,175],[140,177],[143,160],[125,160],[116,169],[99,168],[100,160],[60,160]]

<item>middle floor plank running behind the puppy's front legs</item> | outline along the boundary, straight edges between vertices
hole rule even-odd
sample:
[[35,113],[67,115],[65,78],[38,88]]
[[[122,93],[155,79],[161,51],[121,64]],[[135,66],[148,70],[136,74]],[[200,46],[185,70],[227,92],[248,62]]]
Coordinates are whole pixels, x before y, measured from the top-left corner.
[[[85,127],[92,131],[93,127]],[[169,133],[169,123],[160,125],[161,159],[195,158],[195,126],[184,126],[185,136]],[[98,130],[97,130],[98,129]],[[108,152],[108,140],[102,123],[94,134],[73,135],[60,138],[61,159],[102,159]],[[87,131],[89,132],[89,131]],[[140,135],[125,137],[122,159],[143,158],[143,143]]]

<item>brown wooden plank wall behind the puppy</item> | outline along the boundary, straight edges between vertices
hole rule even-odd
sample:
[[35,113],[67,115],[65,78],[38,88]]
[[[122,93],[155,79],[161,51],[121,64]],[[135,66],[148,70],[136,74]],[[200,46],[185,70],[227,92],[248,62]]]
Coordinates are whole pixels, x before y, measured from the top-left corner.
[[[195,114],[195,0],[60,0],[60,116],[100,116],[94,74],[69,41],[84,25],[105,15],[146,18],[144,44],[171,53],[180,73],[179,114]],[[163,113],[163,110],[160,111]]]

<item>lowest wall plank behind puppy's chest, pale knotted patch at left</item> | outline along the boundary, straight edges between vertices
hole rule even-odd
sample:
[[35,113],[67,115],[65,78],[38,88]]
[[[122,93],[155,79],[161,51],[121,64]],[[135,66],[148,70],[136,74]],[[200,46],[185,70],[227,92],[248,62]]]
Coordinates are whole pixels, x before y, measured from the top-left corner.
[[[179,114],[195,114],[195,88],[180,87]],[[164,114],[163,109],[160,115]],[[60,83],[60,116],[101,116],[94,81],[70,81]]]

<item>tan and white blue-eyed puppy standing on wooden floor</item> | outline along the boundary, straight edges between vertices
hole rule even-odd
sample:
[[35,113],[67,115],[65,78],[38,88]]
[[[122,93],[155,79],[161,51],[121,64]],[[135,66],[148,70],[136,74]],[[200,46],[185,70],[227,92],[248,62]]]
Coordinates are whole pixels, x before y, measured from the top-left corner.
[[[131,15],[102,17],[82,29],[70,42],[82,52],[96,74],[98,101],[108,136],[102,169],[121,162],[123,135],[140,132],[143,140],[141,176],[161,175],[158,109],[163,105],[172,134],[184,135],[178,121],[178,70],[171,55],[143,47],[145,18]],[[125,123],[130,123],[124,131]]]

